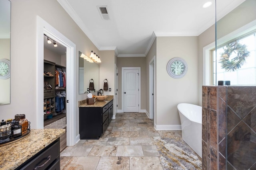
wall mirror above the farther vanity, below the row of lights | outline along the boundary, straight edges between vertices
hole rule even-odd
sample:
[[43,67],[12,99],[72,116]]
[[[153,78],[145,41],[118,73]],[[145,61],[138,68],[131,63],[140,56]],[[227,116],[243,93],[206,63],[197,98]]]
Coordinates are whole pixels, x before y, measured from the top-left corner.
[[84,56],[79,51],[79,94],[99,90],[99,65],[86,61]]

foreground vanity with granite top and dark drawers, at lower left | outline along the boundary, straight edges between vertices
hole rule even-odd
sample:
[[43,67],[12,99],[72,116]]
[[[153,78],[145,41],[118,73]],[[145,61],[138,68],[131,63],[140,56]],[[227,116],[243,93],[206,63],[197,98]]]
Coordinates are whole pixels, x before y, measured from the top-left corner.
[[0,146],[0,169],[60,169],[60,136],[65,129],[31,129],[26,137]]

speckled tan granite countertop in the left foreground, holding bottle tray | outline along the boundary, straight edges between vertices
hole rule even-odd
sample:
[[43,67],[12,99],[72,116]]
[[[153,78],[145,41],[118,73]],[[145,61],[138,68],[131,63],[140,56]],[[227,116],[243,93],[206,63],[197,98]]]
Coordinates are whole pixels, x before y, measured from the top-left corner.
[[65,129],[31,129],[24,138],[0,146],[0,170],[14,170],[65,133]]

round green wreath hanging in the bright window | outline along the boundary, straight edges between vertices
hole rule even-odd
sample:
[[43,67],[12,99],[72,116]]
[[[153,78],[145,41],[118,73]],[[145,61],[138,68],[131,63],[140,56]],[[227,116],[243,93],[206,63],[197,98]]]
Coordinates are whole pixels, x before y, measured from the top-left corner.
[[[223,49],[224,52],[220,53],[221,57],[219,63],[221,64],[221,68],[224,68],[226,71],[234,71],[241,68],[245,63],[246,57],[250,55],[246,45],[240,44],[237,40],[228,43]],[[229,60],[229,57],[233,52],[236,53],[237,56]]]

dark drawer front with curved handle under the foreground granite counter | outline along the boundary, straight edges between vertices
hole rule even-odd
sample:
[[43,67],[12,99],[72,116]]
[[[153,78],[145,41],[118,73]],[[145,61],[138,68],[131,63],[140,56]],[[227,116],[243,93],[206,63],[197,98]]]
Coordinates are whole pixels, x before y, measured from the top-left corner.
[[[52,164],[60,155],[60,145],[58,142],[54,143],[51,147],[46,149],[36,158],[34,158],[30,163],[28,163],[22,170],[44,170],[48,169],[47,167]],[[44,164],[42,167],[38,167]],[[36,168],[37,167],[37,168]]]

